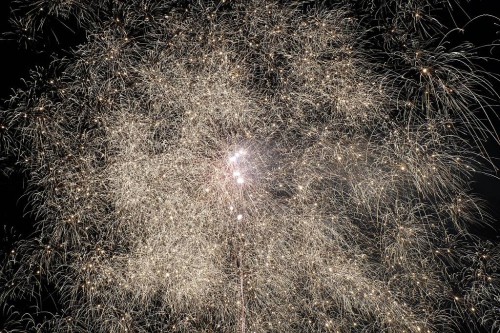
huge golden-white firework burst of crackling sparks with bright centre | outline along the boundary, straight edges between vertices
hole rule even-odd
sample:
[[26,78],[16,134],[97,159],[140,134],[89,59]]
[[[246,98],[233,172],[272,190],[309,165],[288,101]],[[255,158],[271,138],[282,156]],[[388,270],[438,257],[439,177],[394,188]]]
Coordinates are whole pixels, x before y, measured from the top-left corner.
[[17,6],[28,41],[87,38],[2,113],[39,220],[0,294],[36,315],[7,331],[498,329],[461,134],[492,86],[437,2]]

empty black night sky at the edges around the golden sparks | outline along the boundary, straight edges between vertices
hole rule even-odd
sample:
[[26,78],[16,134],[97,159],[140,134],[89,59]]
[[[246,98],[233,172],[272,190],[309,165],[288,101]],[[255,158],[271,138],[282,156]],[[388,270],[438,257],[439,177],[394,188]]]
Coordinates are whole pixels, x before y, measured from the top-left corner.
[[[57,28],[58,31],[61,30],[59,44],[54,44],[52,41],[52,45],[38,45],[38,47],[41,46],[42,52],[35,52],[35,48],[26,49],[16,40],[16,36],[4,36],[6,32],[12,30],[9,24],[10,3],[11,0],[0,0],[0,34],[2,34],[0,35],[0,100],[2,101],[9,98],[13,89],[22,87],[21,78],[27,77],[30,69],[35,66],[45,67],[50,62],[52,52],[69,49],[84,41],[81,32],[71,32],[59,27]],[[470,18],[478,17],[467,25],[462,36],[464,41],[468,40],[476,45],[500,43],[500,20],[491,17],[500,17],[500,0],[472,0],[464,4],[463,8],[464,11],[453,10],[455,22],[459,27],[467,23]],[[449,27],[453,26],[453,21],[445,13],[443,14],[443,22]],[[485,70],[500,75],[500,46],[484,48],[481,52],[484,56],[496,59],[482,63]],[[496,91],[500,93],[500,82],[494,82],[494,84]],[[494,103],[500,104],[500,100],[494,101]],[[488,112],[490,118],[493,119],[495,130],[500,132],[500,121],[498,120],[500,106],[493,106],[492,110],[488,110]],[[500,243],[500,180],[497,178],[500,177],[498,171],[500,168],[500,143],[496,142],[494,138],[490,138],[485,142],[485,147],[494,165],[489,166],[491,175],[476,174],[473,189],[479,197],[486,201],[487,210],[492,215],[492,226],[490,228],[477,227],[474,231],[484,238]],[[34,225],[34,218],[29,214],[27,200],[23,197],[24,176],[16,170],[10,176],[2,172],[2,167],[12,164],[3,160],[5,157],[3,154],[4,152],[0,150],[0,258],[3,251],[10,251],[13,241],[28,237],[33,231]],[[1,321],[0,316],[0,324]]]

